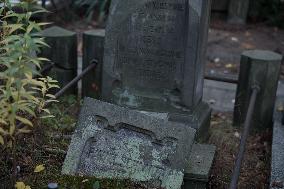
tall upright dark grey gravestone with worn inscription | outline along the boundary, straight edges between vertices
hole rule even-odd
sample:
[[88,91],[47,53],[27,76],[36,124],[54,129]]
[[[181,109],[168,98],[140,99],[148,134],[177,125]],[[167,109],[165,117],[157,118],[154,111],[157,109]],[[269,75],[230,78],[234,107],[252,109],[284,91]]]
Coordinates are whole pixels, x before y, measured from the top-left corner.
[[112,1],[102,99],[169,112],[169,119],[207,130],[211,110],[202,94],[209,10],[210,0]]

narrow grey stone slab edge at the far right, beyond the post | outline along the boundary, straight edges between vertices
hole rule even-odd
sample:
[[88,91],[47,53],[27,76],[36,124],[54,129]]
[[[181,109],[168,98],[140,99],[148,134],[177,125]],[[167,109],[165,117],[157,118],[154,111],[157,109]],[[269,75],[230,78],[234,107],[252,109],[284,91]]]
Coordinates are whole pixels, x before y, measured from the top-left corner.
[[284,105],[284,97],[277,98],[274,111],[274,126],[272,140],[271,158],[271,188],[284,187],[284,124],[283,112],[277,111],[278,107]]

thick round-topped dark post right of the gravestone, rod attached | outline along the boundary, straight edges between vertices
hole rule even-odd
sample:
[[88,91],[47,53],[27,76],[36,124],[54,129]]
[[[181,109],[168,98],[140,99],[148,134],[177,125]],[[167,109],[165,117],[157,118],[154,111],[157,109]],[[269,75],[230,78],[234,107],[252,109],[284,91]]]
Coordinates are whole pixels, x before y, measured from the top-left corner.
[[256,100],[252,128],[267,128],[272,125],[281,60],[281,55],[271,51],[250,50],[242,54],[234,109],[235,126],[244,123],[253,86],[258,86],[260,92]]

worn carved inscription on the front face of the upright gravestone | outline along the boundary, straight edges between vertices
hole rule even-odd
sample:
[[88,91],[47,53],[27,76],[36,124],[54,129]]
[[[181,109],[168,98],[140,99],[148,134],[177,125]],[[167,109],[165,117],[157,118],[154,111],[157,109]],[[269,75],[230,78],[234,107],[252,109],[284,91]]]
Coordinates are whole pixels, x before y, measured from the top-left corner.
[[164,0],[146,2],[123,22],[115,67],[125,86],[174,88],[184,61],[184,19],[184,1]]

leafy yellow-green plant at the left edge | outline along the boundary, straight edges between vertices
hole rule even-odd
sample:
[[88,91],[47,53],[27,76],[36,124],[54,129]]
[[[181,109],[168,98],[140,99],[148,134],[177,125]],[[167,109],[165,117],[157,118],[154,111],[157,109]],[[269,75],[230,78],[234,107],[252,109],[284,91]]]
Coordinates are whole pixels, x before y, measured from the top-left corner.
[[[40,31],[45,23],[32,21],[31,17],[45,11],[30,11],[32,0],[14,5],[9,0],[1,3],[0,148],[11,156],[15,178],[17,140],[36,126],[32,119],[51,117],[45,104],[55,101],[48,91],[58,86],[52,78],[41,77],[38,70],[47,60],[35,55],[46,44],[33,32]],[[15,7],[20,11],[14,11]]]

